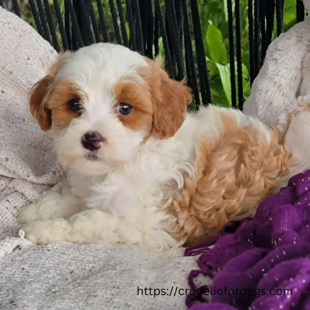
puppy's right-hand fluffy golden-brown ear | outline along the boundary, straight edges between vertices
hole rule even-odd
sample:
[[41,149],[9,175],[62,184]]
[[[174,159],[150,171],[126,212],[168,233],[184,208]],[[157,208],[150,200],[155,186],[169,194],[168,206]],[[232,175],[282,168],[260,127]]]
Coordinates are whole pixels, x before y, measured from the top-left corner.
[[183,124],[192,101],[184,81],[171,79],[161,68],[161,59],[148,61],[145,76],[153,100],[153,135],[160,139],[172,137]]

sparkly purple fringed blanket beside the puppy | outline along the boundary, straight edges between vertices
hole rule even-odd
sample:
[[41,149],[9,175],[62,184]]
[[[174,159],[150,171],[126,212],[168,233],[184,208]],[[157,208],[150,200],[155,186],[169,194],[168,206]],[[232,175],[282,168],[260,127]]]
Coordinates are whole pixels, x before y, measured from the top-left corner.
[[[193,291],[187,296],[187,307],[310,309],[309,227],[310,170],[295,175],[279,193],[265,199],[253,219],[227,224],[221,236],[185,250],[186,256],[201,254],[200,269],[188,277]],[[198,274],[212,277],[212,296],[211,287],[198,290],[194,283]]]

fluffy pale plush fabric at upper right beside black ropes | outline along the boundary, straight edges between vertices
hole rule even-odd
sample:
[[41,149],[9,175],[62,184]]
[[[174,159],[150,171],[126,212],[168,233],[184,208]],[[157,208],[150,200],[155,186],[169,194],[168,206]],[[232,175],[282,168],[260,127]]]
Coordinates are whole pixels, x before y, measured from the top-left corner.
[[[304,1],[310,9],[310,1]],[[243,112],[277,126],[279,116],[297,105],[298,96],[310,94],[310,16],[282,33],[268,47]]]

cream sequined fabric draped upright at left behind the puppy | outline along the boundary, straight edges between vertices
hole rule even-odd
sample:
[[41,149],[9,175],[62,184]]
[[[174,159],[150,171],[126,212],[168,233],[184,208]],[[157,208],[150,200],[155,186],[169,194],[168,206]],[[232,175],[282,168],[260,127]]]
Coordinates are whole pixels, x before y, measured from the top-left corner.
[[[51,150],[26,107],[29,88],[57,53],[19,17],[0,7],[0,257],[17,243],[17,210],[64,180]],[[18,236],[17,236],[18,237]]]

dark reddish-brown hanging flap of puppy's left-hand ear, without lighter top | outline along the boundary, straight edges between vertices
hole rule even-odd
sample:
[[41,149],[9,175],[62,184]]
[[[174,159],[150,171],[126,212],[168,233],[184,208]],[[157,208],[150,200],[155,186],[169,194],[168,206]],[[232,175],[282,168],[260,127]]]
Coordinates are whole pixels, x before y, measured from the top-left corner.
[[47,75],[39,82],[35,83],[29,93],[29,109],[30,113],[37,120],[39,126],[43,131],[47,131],[52,126],[51,110],[47,107],[46,96],[48,88],[54,78]]

